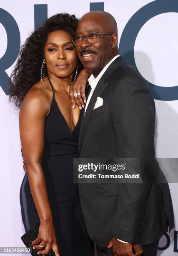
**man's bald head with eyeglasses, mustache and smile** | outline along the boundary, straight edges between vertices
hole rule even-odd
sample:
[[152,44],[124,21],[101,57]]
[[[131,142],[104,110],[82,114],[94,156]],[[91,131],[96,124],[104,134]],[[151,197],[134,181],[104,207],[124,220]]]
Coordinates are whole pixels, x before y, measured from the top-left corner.
[[[95,77],[119,52],[118,27],[110,13],[85,13],[78,22],[76,36],[81,38],[76,46],[78,57],[85,69],[93,72]],[[95,42],[90,38],[95,38]]]

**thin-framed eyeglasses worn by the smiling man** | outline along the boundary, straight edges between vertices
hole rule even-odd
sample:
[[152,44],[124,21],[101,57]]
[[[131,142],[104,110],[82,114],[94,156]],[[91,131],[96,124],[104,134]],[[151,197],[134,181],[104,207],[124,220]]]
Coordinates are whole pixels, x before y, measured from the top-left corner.
[[112,35],[112,34],[113,33],[100,33],[100,32],[89,33],[86,36],[75,36],[75,37],[71,38],[71,40],[75,46],[80,46],[80,44],[83,41],[83,38],[85,38],[89,44],[95,44],[98,42],[100,35]]

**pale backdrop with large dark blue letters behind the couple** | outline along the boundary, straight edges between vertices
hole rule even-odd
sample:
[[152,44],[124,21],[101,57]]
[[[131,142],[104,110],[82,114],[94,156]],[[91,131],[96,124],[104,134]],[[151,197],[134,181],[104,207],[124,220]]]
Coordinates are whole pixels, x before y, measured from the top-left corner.
[[[80,18],[105,10],[118,23],[120,55],[142,75],[156,105],[158,158],[178,158],[177,0],[1,0],[0,1],[0,247],[24,246],[19,202],[24,177],[18,110],[8,102],[8,78],[20,45],[43,21],[67,12]],[[170,184],[175,229],[160,240],[158,255],[178,255],[178,186]],[[24,254],[25,255],[25,254]]]

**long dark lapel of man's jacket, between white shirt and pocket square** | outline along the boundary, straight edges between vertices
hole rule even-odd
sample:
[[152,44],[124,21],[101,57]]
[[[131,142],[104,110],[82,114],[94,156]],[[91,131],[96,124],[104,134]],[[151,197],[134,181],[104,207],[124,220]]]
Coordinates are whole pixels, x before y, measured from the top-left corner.
[[[110,79],[112,78],[113,74],[115,73],[115,71],[120,67],[121,64],[123,64],[124,61],[123,59],[119,56],[117,59],[115,59],[110,66],[108,67],[108,69],[105,71],[105,73],[103,74],[103,76],[100,78],[94,92],[93,95],[90,99],[90,102],[88,104],[88,108],[86,110],[85,113],[85,108],[83,110],[83,116],[82,116],[82,121],[81,121],[81,125],[80,125],[80,134],[79,134],[79,152],[80,149],[82,147],[82,143],[83,143],[83,138],[85,136],[85,131],[86,128],[88,126],[88,122],[90,120],[90,116],[92,114],[93,108],[95,106],[95,102],[97,100],[97,97],[100,97],[103,92],[105,91],[105,89],[107,88],[108,84],[110,83]],[[88,94],[89,95],[89,94]],[[85,115],[84,115],[85,113]]]

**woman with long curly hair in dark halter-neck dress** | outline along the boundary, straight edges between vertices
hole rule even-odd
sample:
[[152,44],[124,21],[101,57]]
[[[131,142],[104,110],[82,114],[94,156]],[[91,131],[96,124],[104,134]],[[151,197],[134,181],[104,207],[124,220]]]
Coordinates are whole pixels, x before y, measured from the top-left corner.
[[[70,38],[77,23],[75,15],[49,18],[22,46],[11,76],[10,99],[20,107],[20,139],[28,174],[20,189],[23,223],[27,231],[40,222],[33,248],[42,255],[50,248],[56,256],[94,255],[78,184],[73,183],[81,114],[71,107],[69,94],[80,63]],[[87,78],[81,71],[78,79],[86,83]]]

